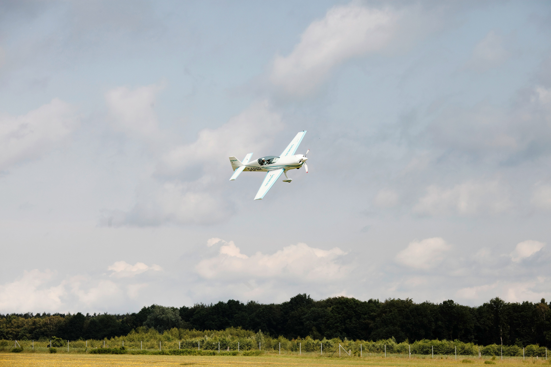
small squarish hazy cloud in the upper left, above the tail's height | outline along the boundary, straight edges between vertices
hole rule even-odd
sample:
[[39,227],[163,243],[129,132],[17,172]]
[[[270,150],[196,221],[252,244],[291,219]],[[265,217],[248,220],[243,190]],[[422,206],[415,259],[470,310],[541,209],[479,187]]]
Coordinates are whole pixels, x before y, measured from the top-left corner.
[[155,113],[155,95],[158,85],[140,86],[130,90],[121,86],[105,94],[112,125],[116,130],[139,138],[152,139],[159,134]]

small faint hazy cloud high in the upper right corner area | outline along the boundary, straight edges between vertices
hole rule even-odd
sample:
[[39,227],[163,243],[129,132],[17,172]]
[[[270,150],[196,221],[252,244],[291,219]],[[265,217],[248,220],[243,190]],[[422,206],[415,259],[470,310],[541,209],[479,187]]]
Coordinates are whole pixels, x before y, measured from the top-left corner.
[[485,72],[490,68],[494,68],[503,64],[510,56],[504,47],[504,37],[494,30],[488,34],[474,46],[471,59],[466,64],[466,67],[477,72]]

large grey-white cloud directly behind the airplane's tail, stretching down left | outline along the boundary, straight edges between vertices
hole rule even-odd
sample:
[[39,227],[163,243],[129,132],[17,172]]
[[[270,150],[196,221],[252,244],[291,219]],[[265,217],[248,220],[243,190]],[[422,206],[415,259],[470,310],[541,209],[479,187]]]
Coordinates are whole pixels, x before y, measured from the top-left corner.
[[131,210],[105,211],[101,223],[156,226],[226,220],[234,212],[232,196],[223,191],[231,176],[228,157],[266,150],[282,127],[280,115],[264,101],[253,103],[218,129],[201,130],[195,142],[162,155],[155,172],[141,183]]

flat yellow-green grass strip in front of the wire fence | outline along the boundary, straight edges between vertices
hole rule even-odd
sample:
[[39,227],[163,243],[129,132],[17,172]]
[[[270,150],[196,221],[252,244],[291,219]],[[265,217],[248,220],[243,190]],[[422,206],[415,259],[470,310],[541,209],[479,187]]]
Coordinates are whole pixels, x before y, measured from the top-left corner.
[[[472,363],[462,363],[461,359],[431,359],[431,358],[326,358],[313,355],[299,357],[298,355],[263,355],[261,357],[201,357],[178,355],[92,355],[92,354],[42,354],[42,353],[0,353],[2,367],[111,367],[111,366],[212,366],[212,367],[253,367],[253,366],[404,366],[404,367],[466,367],[485,366],[484,360],[470,359]],[[546,360],[507,358],[496,360],[496,366],[534,366],[549,365]]]

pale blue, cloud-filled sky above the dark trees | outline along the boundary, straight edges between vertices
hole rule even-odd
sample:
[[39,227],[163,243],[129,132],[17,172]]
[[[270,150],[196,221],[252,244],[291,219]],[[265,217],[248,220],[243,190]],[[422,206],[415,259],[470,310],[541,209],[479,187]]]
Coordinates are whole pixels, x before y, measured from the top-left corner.
[[551,298],[549,2],[0,9],[0,313]]

